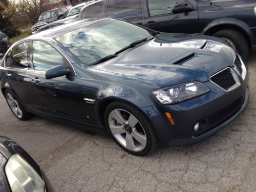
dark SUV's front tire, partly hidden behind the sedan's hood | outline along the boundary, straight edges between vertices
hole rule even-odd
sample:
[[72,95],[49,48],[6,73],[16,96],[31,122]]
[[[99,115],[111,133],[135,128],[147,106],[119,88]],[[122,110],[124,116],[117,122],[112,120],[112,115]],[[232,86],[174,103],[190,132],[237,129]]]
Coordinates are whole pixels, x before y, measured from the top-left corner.
[[244,35],[234,29],[223,29],[216,32],[213,36],[230,40],[236,47],[237,52],[246,60],[249,55],[249,46]]

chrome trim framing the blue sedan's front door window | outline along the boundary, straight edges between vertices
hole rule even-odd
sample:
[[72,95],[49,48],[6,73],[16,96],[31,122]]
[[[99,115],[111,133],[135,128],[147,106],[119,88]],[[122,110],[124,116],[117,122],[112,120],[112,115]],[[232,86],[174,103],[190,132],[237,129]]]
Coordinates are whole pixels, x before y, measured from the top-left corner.
[[[33,63],[33,41],[45,42],[46,44],[51,46],[53,49],[55,49],[63,57],[63,66],[70,68],[72,75],[76,77],[75,69],[74,69],[73,65],[71,64],[71,62],[69,61],[69,59],[65,55],[63,55],[57,47],[52,45],[50,42],[48,42],[46,40],[42,40],[42,39],[31,39],[31,47],[30,47],[31,59],[30,59],[30,61],[31,61],[31,65],[33,65],[33,68],[32,68],[33,71],[35,71],[34,70],[34,63]],[[38,72],[44,72],[45,73],[45,71],[38,71]]]

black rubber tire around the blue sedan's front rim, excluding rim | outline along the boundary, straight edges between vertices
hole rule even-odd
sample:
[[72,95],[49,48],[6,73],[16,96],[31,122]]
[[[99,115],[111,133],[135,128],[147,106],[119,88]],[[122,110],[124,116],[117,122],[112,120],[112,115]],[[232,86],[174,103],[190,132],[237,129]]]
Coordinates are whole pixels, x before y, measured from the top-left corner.
[[[145,134],[146,134],[146,139],[147,139],[147,143],[146,143],[146,146],[145,148],[140,151],[140,152],[133,152],[133,151],[130,151],[128,150],[126,147],[124,147],[121,143],[119,143],[117,141],[117,139],[114,137],[114,135],[112,134],[111,130],[110,130],[110,127],[109,127],[109,114],[115,110],[115,109],[123,109],[129,113],[131,113],[132,115],[134,115],[138,120],[139,122],[141,123],[141,125],[143,126],[143,129],[145,131]],[[130,154],[133,154],[133,155],[137,155],[137,156],[143,156],[143,155],[146,155],[147,153],[149,153],[151,151],[151,148],[152,148],[152,136],[150,134],[150,131],[148,130],[148,127],[147,127],[147,123],[149,122],[144,122],[144,118],[145,117],[141,117],[143,114],[142,113],[139,113],[138,110],[134,110],[134,107],[133,106],[130,106],[126,103],[122,103],[122,102],[113,102],[111,103],[105,110],[105,113],[104,113],[104,121],[105,121],[105,125],[106,125],[106,129],[108,130],[109,134],[111,135],[111,137],[114,139],[114,141],[124,150],[126,151],[127,153],[130,153]]]

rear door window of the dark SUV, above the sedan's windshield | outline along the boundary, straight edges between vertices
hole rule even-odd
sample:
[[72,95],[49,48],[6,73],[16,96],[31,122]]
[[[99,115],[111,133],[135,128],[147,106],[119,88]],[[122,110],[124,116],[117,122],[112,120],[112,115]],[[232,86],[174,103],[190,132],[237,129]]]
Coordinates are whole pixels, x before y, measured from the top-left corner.
[[129,21],[142,19],[141,0],[110,0],[106,16]]

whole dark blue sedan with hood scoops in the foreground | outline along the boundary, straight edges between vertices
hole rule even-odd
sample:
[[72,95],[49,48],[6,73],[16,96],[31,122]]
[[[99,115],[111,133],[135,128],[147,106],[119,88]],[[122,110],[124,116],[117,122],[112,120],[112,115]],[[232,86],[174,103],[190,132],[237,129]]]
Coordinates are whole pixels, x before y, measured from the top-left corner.
[[29,113],[99,134],[134,155],[216,134],[247,108],[247,68],[221,38],[158,33],[118,19],[78,21],[16,42],[1,90]]

